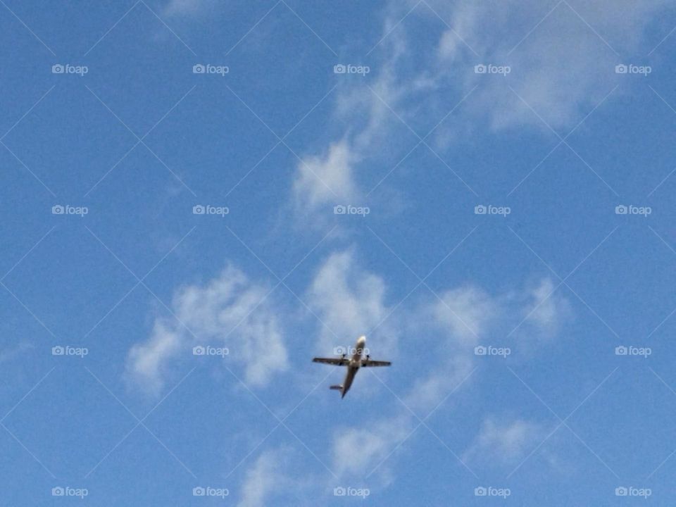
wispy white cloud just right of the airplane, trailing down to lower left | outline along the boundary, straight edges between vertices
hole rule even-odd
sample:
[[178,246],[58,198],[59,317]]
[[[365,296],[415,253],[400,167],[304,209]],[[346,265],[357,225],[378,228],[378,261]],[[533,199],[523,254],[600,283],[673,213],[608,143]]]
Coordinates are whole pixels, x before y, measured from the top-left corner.
[[[572,317],[568,300],[556,292],[551,294],[554,287],[549,278],[539,280],[534,287],[504,295],[465,286],[441,292],[442,301],[434,298],[415,314],[408,315],[408,320],[417,326],[408,334],[428,335],[433,339],[418,338],[414,345],[418,350],[425,350],[427,359],[424,375],[418,377],[410,392],[403,396],[406,405],[420,417],[442,402],[447,409],[452,401],[452,398],[446,399],[449,393],[461,382],[472,381],[470,374],[477,365],[475,345],[513,348],[515,345],[506,336],[527,315],[519,328],[517,353],[522,358],[537,353],[538,345],[544,343],[544,339],[555,337]],[[540,306],[533,311],[537,304]]]

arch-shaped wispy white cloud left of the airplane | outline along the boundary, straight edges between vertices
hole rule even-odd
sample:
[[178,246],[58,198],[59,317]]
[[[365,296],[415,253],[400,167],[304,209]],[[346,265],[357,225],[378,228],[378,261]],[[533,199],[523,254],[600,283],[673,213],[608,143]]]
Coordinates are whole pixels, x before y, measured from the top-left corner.
[[127,373],[156,393],[170,361],[192,357],[192,346],[227,346],[225,361],[244,367],[247,384],[263,386],[288,368],[277,309],[270,299],[261,303],[268,290],[232,266],[205,285],[179,289],[172,302],[176,318],[156,318],[149,339],[130,350]]

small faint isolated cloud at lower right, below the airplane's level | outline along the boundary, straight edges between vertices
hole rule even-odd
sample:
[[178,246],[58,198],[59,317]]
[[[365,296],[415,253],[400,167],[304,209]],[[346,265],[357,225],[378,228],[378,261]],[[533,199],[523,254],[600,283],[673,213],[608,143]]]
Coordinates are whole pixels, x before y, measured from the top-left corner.
[[487,418],[470,449],[463,453],[463,461],[510,465],[525,458],[546,434],[542,425],[531,421],[516,419],[501,423]]

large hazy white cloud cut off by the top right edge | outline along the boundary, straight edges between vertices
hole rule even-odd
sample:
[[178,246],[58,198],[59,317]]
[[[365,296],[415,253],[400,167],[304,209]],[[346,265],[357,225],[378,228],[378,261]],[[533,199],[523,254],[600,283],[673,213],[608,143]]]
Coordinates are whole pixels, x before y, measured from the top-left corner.
[[[458,84],[458,75],[465,76],[465,92],[478,84],[467,106],[487,117],[496,130],[524,124],[544,127],[507,84],[552,127],[574,127],[615,86],[616,63],[631,54],[644,58],[648,50],[637,55],[644,29],[666,4],[665,0],[571,1],[584,20],[564,2],[542,21],[556,2],[499,0],[451,8],[437,3],[434,7],[447,16],[451,28],[480,55],[446,30],[437,48],[439,77]],[[475,75],[472,66],[477,63],[510,65],[511,74],[499,79]]]

